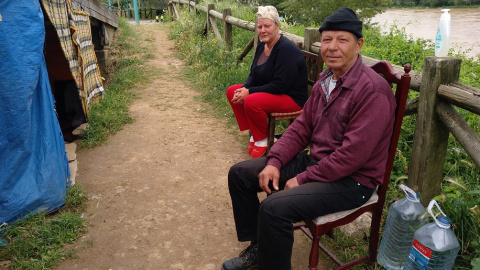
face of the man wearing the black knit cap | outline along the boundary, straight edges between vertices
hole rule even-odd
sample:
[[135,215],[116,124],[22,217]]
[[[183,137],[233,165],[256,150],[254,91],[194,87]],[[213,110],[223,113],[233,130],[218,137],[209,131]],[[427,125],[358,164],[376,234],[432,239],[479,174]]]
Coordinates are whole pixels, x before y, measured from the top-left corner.
[[363,38],[357,39],[347,31],[323,31],[320,38],[321,55],[327,67],[333,70],[335,79],[350,69],[363,46]]

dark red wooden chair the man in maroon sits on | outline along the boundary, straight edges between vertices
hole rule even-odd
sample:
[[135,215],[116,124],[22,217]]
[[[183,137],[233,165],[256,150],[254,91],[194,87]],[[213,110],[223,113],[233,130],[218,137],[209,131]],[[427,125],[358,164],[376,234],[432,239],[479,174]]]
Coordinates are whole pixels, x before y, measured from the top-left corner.
[[[390,173],[393,167],[393,161],[395,159],[395,153],[397,150],[403,115],[405,112],[405,104],[407,101],[408,90],[411,80],[411,77],[408,73],[410,72],[411,67],[410,64],[407,64],[404,68],[405,73],[401,76],[392,69],[392,66],[387,61],[380,61],[374,64],[372,68],[376,72],[381,74],[390,83],[392,87],[393,84],[397,85],[395,91],[395,99],[397,102],[394,120],[395,123],[392,139],[390,141],[388,160],[385,174],[383,177],[383,184],[378,186],[377,190],[374,192],[370,200],[359,208],[320,216],[315,218],[314,220],[305,220],[305,224],[294,226],[295,229],[302,230],[310,239],[312,239],[312,247],[310,250],[309,258],[309,269],[311,270],[317,269],[319,248],[339,266],[336,269],[349,269],[362,262],[368,262],[370,266],[373,266],[377,258],[380,221],[382,218],[382,210],[385,203],[388,182],[390,181]],[[369,238],[369,253],[368,255],[353,260],[351,262],[342,263],[337,257],[335,257],[332,252],[330,252],[324,245],[319,242],[319,239],[322,235],[331,235],[334,228],[354,221],[356,218],[358,218],[361,214],[365,212],[372,213]]]

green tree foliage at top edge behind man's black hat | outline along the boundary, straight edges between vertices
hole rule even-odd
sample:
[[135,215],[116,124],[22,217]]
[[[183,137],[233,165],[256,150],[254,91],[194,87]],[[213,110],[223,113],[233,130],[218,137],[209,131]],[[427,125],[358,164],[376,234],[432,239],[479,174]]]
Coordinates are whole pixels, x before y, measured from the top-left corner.
[[319,26],[328,15],[342,7],[355,10],[358,17],[368,23],[383,12],[385,6],[391,5],[392,0],[263,0],[260,3],[276,5],[280,13],[305,26]]

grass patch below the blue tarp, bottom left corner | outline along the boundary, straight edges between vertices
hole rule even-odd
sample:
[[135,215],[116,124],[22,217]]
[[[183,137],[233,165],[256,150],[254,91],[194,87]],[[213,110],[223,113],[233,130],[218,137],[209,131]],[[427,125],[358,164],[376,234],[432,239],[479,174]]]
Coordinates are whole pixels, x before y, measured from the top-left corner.
[[0,226],[1,237],[7,241],[0,247],[0,269],[52,269],[74,257],[75,250],[67,245],[85,232],[82,212],[86,202],[86,192],[77,184],[68,189],[60,212],[32,214]]

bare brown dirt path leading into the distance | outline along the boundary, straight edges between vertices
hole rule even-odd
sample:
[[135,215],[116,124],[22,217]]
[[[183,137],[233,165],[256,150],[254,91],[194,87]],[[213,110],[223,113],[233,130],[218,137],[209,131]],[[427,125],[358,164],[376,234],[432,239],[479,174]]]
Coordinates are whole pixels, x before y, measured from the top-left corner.
[[[249,156],[182,80],[166,30],[133,27],[154,40],[148,65],[161,75],[133,90],[134,123],[77,152],[90,226],[78,258],[56,269],[220,269],[246,246],[236,239],[227,172]],[[309,244],[296,234],[293,266],[307,269]]]

